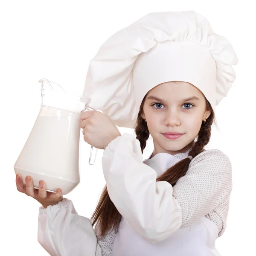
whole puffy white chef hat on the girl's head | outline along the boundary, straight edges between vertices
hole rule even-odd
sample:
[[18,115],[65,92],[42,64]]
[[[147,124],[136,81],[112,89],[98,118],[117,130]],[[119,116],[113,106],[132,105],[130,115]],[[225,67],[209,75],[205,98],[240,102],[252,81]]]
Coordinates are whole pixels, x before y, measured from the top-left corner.
[[145,94],[167,81],[193,84],[213,111],[238,63],[230,42],[195,11],[154,12],[119,30],[90,61],[84,96],[119,127],[134,128]]

